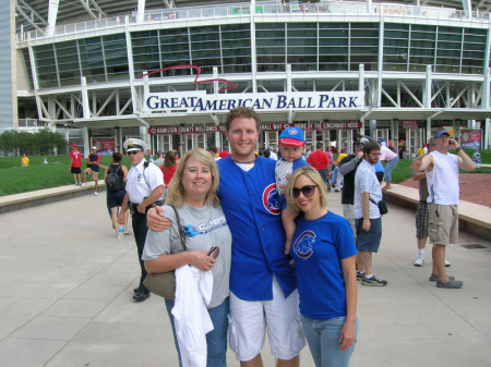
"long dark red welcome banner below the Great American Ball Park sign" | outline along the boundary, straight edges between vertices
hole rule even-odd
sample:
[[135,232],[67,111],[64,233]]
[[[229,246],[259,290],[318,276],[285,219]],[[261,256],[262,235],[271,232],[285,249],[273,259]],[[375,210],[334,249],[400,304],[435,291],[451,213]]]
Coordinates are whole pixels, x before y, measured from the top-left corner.
[[[287,127],[300,127],[303,131],[309,130],[346,130],[346,129],[361,129],[361,122],[299,122],[299,123],[272,123],[260,124],[260,131],[283,131]],[[156,126],[148,127],[148,134],[192,134],[192,133],[217,133],[225,132],[225,125],[197,125],[197,126]]]

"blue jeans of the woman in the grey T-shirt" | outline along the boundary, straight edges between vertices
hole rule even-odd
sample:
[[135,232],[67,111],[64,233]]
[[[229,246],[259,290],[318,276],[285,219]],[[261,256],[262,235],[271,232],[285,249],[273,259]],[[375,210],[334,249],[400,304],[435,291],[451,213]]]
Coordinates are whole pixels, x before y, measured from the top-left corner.
[[[179,366],[181,364],[181,354],[179,352],[179,343],[176,337],[176,328],[173,326],[173,315],[171,314],[173,301],[165,298],[167,314],[169,314],[170,325],[172,326],[173,342],[179,355]],[[228,331],[228,297],[216,306],[208,309],[209,318],[213,322],[213,330],[206,334],[206,344],[208,355],[206,359],[207,367],[226,367],[227,366],[227,331]]]

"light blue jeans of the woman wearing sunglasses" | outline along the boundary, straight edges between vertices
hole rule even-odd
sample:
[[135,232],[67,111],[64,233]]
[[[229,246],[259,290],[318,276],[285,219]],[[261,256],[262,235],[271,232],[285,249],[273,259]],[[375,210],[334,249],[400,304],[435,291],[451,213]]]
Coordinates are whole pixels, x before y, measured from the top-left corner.
[[[328,320],[313,320],[300,315],[303,333],[309,343],[310,353],[316,367],[348,367],[349,358],[355,350],[357,338],[350,347],[339,350],[339,335],[345,325],[346,317]],[[358,335],[358,320],[356,323]]]

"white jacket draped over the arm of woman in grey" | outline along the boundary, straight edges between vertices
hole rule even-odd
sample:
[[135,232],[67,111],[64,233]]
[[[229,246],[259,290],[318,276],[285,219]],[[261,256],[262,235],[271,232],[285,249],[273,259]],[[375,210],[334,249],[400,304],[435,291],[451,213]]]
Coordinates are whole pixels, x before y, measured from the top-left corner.
[[173,325],[182,367],[206,367],[206,333],[213,330],[206,305],[212,301],[213,273],[184,265],[176,269]]

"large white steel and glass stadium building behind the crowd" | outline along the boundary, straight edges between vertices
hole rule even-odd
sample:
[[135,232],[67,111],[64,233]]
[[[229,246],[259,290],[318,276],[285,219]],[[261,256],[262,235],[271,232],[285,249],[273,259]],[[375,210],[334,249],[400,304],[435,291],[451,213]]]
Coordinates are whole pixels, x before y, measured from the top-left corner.
[[[415,154],[445,126],[490,144],[490,1],[15,0],[0,17],[0,131],[44,126],[120,151],[227,145],[230,108],[352,149]],[[8,7],[4,4],[3,7]],[[0,10],[2,10],[0,8]],[[13,106],[13,107],[10,107]]]

